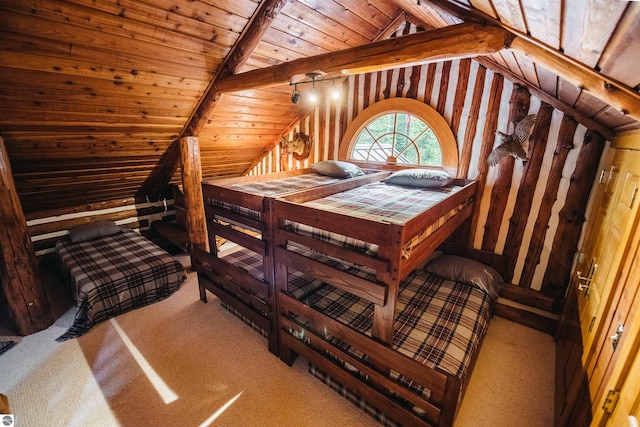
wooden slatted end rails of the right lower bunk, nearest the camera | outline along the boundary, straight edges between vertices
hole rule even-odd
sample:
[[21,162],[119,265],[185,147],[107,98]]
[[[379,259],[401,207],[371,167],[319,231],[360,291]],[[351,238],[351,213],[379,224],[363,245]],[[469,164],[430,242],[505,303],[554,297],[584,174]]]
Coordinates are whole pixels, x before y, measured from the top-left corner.
[[[302,355],[403,425],[453,424],[462,386],[456,376],[428,368],[284,293],[278,295],[278,304],[280,342],[283,346]],[[305,323],[297,319],[305,319]],[[295,331],[297,337],[290,331]],[[376,363],[365,364],[340,350],[326,339],[329,336],[348,343],[364,354],[375,355]],[[336,358],[355,367],[358,374],[344,368]],[[376,369],[376,365],[386,369]],[[430,398],[427,400],[390,378],[387,375],[389,369],[429,389]],[[402,404],[394,396],[408,404]],[[412,406],[421,408],[425,417],[412,412]]]

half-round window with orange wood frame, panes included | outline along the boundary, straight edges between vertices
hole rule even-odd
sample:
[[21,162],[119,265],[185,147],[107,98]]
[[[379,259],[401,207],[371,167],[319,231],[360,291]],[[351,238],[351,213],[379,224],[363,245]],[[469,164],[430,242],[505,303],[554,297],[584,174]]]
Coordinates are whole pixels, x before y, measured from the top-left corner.
[[430,106],[391,98],[362,111],[347,128],[340,158],[458,169],[458,149],[444,118]]

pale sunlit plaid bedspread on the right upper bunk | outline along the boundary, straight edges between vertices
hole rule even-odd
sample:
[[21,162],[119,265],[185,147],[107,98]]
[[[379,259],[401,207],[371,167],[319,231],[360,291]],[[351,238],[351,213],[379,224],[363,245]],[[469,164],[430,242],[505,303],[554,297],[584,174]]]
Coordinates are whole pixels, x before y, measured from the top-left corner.
[[[332,194],[328,197],[306,202],[304,205],[320,211],[350,215],[384,224],[405,224],[421,212],[428,210],[438,202],[460,191],[462,187],[452,186],[442,189],[422,189],[400,187],[374,182],[349,191]],[[403,248],[403,258],[408,258],[411,250],[447,220],[457,214],[465,203],[446,212],[427,229],[414,236]],[[358,252],[375,255],[378,245],[360,239],[344,236],[328,230],[314,228],[306,224],[286,222],[286,227],[300,234],[326,240]]]

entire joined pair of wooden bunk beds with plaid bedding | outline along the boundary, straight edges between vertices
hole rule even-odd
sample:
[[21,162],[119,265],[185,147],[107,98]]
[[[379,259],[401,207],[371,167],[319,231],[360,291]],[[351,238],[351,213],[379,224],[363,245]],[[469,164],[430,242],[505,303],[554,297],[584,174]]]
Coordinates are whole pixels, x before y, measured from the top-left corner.
[[497,291],[469,280],[464,259],[427,264],[470,217],[476,183],[424,172],[364,169],[292,191],[287,174],[204,183],[211,247],[238,246],[195,249],[201,298],[215,293],[274,354],[302,355],[380,421],[452,425]]

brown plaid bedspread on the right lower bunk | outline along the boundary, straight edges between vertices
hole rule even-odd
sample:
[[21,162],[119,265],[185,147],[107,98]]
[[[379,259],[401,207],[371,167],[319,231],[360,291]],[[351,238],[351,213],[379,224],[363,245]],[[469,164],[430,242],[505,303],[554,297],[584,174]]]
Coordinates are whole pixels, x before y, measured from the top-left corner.
[[[412,272],[400,284],[394,324],[393,348],[430,367],[465,380],[471,357],[486,332],[490,298],[472,286],[442,277]],[[305,300],[310,307],[371,336],[374,305],[327,285]],[[346,343],[334,344],[355,357],[369,357]],[[407,387],[428,397],[411,379],[392,372]]]

